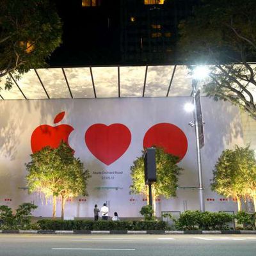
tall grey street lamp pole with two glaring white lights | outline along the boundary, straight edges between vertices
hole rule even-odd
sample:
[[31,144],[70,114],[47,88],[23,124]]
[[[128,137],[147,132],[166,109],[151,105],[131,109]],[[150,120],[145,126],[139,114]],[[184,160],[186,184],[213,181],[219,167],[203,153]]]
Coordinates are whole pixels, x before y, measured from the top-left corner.
[[186,104],[185,109],[187,111],[194,112],[194,123],[189,122],[191,127],[195,126],[195,135],[196,135],[196,156],[197,156],[197,168],[198,168],[198,194],[200,202],[200,211],[205,211],[204,204],[204,186],[202,179],[202,163],[201,163],[201,152],[200,148],[204,147],[204,130],[202,122],[202,112],[201,112],[201,103],[200,103],[200,90],[197,88],[198,81],[204,79],[209,74],[209,69],[205,66],[198,66],[193,69],[192,72],[192,97],[193,104]]

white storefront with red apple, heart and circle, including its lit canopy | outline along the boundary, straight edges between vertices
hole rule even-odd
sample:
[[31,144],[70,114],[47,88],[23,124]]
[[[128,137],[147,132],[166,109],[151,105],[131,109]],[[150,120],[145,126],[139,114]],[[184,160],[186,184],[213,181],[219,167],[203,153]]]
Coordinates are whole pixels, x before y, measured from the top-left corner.
[[[121,218],[140,218],[147,196],[131,195],[130,167],[141,156],[148,136],[154,145],[182,156],[179,166],[184,169],[177,197],[157,198],[157,216],[163,211],[199,209],[195,130],[188,125],[193,114],[184,111],[184,104],[191,102],[191,81],[184,66],[30,70],[15,81],[11,91],[0,95],[0,204],[16,209],[23,202],[33,202],[38,205],[34,216],[51,216],[51,198],[28,194],[24,164],[29,163],[35,145],[55,143],[60,138],[56,131],[64,125],[75,156],[92,175],[89,196],[67,201],[67,218],[92,218],[93,206],[103,203],[109,205],[110,216],[116,211]],[[65,112],[63,119],[54,124],[61,112]],[[204,96],[202,115],[205,209],[236,211],[234,198],[223,198],[211,190],[212,170],[227,148],[252,142],[256,149],[255,122],[236,106]],[[60,216],[60,198],[57,207]]]

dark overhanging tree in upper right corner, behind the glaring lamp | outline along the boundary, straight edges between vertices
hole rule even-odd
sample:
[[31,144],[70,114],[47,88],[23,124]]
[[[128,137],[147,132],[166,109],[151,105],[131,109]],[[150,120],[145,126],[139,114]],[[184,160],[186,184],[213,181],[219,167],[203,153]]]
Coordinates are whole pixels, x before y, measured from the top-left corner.
[[201,0],[179,25],[179,49],[189,65],[211,64],[204,91],[228,100],[256,119],[255,0]]

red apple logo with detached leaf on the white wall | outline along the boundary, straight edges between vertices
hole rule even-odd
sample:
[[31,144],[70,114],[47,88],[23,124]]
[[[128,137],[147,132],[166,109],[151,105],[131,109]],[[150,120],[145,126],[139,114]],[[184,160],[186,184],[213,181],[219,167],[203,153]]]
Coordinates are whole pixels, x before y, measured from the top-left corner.
[[[60,122],[64,116],[65,111],[56,115],[54,118],[54,124]],[[35,153],[46,146],[57,148],[61,141],[64,141],[68,144],[68,136],[73,130],[74,128],[67,124],[61,124],[54,127],[51,125],[43,124],[36,127],[31,135],[32,152]]]

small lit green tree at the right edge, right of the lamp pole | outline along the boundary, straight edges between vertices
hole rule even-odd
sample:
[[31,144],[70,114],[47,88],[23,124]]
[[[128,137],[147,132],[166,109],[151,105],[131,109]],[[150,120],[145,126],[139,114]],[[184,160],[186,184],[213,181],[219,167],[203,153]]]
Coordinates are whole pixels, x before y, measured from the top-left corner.
[[253,150],[236,146],[224,150],[214,171],[212,190],[224,196],[237,198],[241,211],[241,198],[250,196],[256,206],[256,161]]

